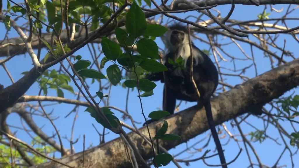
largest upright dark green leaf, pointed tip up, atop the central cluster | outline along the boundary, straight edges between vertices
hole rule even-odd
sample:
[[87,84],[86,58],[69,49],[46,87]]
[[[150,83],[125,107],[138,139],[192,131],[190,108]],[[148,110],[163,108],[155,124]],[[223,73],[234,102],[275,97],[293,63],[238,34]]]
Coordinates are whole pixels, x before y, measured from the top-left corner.
[[133,39],[141,36],[144,30],[147,28],[144,12],[134,1],[129,12],[127,13],[125,24],[126,30]]

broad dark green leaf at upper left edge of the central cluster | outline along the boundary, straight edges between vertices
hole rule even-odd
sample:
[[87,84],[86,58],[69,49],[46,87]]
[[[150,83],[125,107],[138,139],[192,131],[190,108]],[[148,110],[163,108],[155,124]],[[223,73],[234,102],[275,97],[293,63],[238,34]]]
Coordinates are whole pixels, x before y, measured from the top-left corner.
[[102,38],[102,50],[107,59],[111,59],[113,61],[118,59],[120,54],[123,53],[119,45],[107,39],[106,37]]

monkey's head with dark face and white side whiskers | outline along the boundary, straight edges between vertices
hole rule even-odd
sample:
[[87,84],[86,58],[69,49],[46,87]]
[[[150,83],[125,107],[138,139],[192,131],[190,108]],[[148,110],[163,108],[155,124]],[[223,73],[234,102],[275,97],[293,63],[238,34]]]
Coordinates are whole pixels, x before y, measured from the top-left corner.
[[188,29],[180,23],[169,26],[169,31],[165,33],[165,38],[167,40],[166,47],[173,52],[180,46],[189,44]]

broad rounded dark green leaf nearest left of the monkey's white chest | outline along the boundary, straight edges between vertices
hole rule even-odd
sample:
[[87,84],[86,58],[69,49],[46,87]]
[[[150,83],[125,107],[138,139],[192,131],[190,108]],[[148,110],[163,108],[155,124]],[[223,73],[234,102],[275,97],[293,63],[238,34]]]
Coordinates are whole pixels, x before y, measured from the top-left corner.
[[152,39],[140,39],[137,42],[137,51],[145,57],[159,58],[158,45]]

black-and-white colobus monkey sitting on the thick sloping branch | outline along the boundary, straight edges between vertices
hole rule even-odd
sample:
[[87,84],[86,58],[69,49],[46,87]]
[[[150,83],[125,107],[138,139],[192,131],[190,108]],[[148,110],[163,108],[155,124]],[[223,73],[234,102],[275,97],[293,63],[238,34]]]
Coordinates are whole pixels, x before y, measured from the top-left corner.
[[[218,71],[216,66],[207,54],[202,52],[193,43],[191,44],[193,53],[193,78],[200,93],[200,98],[198,98],[193,83],[190,80],[191,59],[187,28],[181,24],[170,26],[169,31],[166,32],[165,46],[167,48],[167,54],[163,57],[163,62],[168,68],[168,71],[150,74],[146,78],[152,81],[161,80],[161,82],[164,83],[163,110],[168,111],[170,114],[174,113],[176,99],[189,102],[197,101],[204,105],[208,124],[219,153],[222,167],[227,167],[222,146],[215,128],[210,104],[210,97],[218,85]],[[179,67],[174,67],[168,62],[168,59],[175,61],[179,56],[184,60],[184,70]],[[147,123],[154,121],[156,120],[148,120]]]

